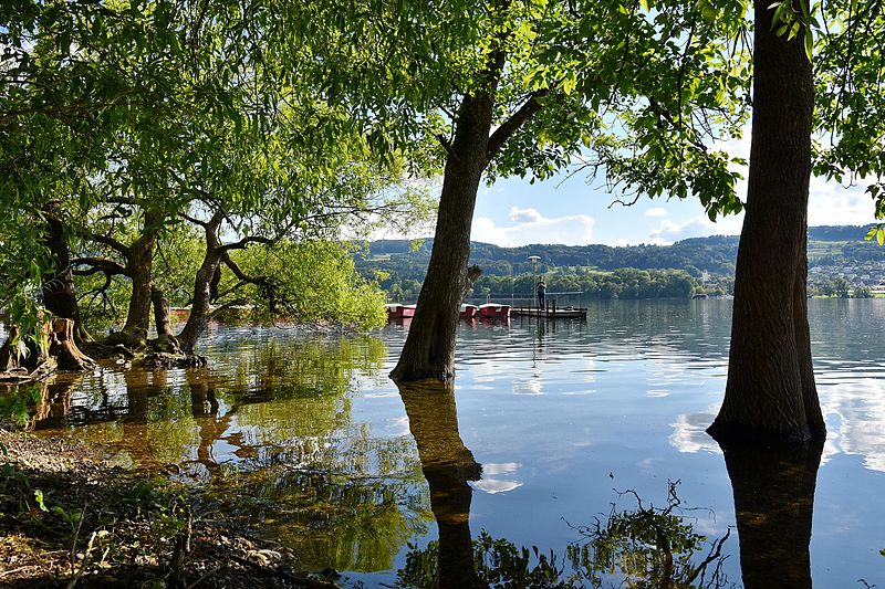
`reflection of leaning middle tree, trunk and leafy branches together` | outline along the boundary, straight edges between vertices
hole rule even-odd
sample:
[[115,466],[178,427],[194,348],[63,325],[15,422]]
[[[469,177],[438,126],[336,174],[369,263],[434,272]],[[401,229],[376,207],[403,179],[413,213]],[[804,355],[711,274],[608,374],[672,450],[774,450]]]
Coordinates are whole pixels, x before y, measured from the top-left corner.
[[[577,528],[581,543],[564,558],[537,548],[517,547],[485,530],[470,535],[472,490],[482,467],[461,441],[454,390],[436,381],[399,386],[409,430],[418,445],[421,470],[430,487],[430,507],[439,539],[415,547],[398,571],[405,587],[725,587],[722,538],[706,544],[680,513],[676,485],[667,507],[646,506],[636,493],[636,508],[610,513],[607,520]],[[706,556],[705,556],[706,555]]]

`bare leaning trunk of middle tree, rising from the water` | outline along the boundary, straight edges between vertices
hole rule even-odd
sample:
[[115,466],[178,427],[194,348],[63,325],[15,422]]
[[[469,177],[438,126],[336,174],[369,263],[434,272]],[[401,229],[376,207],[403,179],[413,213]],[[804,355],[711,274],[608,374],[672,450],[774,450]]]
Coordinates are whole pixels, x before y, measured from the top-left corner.
[[395,381],[423,378],[445,381],[455,374],[458,312],[471,277],[476,278],[467,267],[470,225],[479,181],[488,165],[493,106],[492,95],[483,93],[466,97],[458,111],[439,197],[434,249],[406,344],[391,372]]

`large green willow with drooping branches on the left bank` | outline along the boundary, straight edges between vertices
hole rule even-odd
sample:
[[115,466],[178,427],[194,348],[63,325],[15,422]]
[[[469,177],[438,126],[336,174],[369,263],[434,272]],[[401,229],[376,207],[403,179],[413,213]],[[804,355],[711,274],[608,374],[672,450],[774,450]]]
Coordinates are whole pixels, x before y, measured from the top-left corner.
[[[122,278],[129,296],[121,337],[143,340],[152,305],[164,301],[156,250],[190,222],[207,251],[194,278],[198,313],[184,334],[192,344],[208,320],[209,284],[222,265],[237,272],[230,251],[327,238],[342,223],[376,220],[378,201],[406,199],[384,191],[399,180],[396,158],[374,158],[346,106],[315,99],[322,65],[264,44],[284,36],[272,3],[21,0],[0,14],[9,23],[0,31],[0,147],[9,156],[0,198],[15,213],[0,222],[14,223],[4,245],[20,235],[41,253],[3,256],[11,278],[31,272],[38,281],[3,298],[21,299],[33,317],[41,276],[50,311],[72,318],[72,269],[105,276],[105,286]],[[52,218],[41,212],[48,203]],[[222,231],[233,239],[221,243]],[[52,239],[41,240],[46,232]]]

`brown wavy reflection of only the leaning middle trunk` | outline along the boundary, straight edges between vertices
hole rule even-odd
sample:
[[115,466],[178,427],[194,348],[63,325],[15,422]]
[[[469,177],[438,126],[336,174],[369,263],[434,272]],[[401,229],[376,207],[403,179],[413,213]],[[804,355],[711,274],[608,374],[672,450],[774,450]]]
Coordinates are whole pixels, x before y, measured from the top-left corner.
[[441,587],[481,587],[473,565],[470,540],[468,481],[479,480],[482,466],[464,445],[458,432],[455,391],[441,382],[402,385],[409,431],[418,445],[430,508],[439,529],[439,583]]

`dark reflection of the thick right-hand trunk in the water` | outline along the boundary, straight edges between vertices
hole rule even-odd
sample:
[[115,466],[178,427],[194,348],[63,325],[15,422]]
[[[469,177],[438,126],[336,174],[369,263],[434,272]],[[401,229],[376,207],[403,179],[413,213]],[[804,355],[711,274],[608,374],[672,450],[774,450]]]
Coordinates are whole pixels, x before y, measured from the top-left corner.
[[723,448],[735,492],[743,586],[811,587],[811,520],[823,442]]

